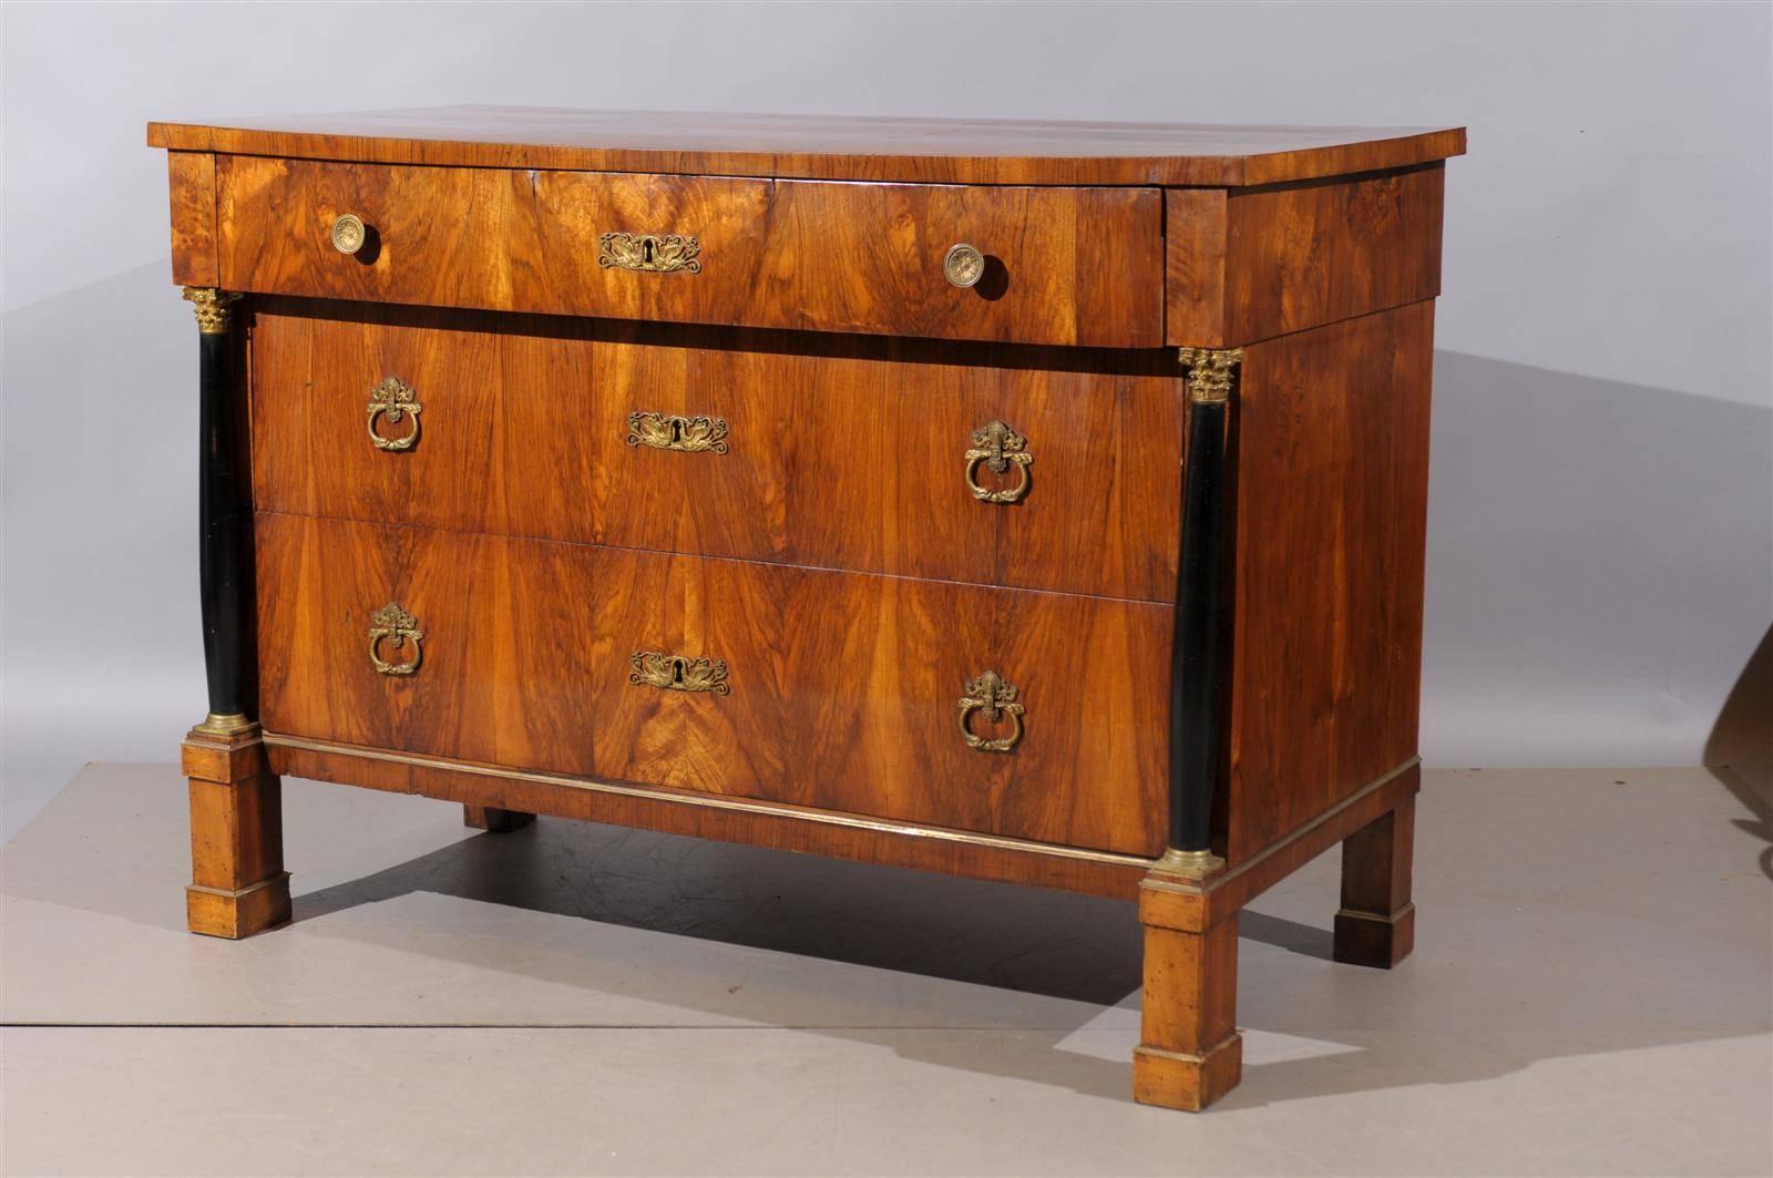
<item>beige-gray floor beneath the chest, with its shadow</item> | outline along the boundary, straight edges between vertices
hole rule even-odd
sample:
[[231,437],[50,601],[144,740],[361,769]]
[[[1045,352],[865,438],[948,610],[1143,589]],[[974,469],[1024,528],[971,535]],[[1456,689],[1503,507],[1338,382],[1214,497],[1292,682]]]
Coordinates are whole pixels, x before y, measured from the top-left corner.
[[7,1174],[1769,1174],[1773,802],[1431,772],[1417,953],[1245,912],[1245,1079],[1135,1105],[1133,907],[285,782],[294,923],[184,931],[174,766],[0,852]]

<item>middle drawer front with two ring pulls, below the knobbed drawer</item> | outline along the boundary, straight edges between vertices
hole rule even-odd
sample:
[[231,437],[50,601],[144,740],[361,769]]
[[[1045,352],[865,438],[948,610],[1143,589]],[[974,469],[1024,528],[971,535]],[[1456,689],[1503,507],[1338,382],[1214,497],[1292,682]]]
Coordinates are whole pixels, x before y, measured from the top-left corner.
[[261,507],[1174,600],[1183,401],[1167,353],[1083,373],[991,364],[993,348],[943,362],[954,344],[807,353],[761,332],[399,316],[259,310]]

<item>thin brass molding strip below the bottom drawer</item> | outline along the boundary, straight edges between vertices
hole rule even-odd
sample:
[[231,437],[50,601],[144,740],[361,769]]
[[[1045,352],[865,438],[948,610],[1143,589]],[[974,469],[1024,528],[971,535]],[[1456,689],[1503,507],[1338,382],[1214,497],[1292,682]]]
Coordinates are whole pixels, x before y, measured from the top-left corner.
[[[566,774],[537,774],[521,768],[500,768],[495,765],[477,765],[473,761],[454,761],[450,758],[422,756],[413,752],[388,752],[385,749],[365,749],[330,740],[310,740],[307,736],[285,736],[282,733],[264,733],[264,743],[282,749],[301,749],[305,752],[332,752],[363,761],[390,761],[394,765],[417,765],[420,768],[440,768],[452,774],[473,774],[477,777],[505,777],[511,781],[534,781],[544,786],[566,786],[569,789],[589,789],[590,793],[610,793],[624,798],[644,798],[649,802],[676,802],[677,805],[700,805],[706,809],[741,811],[769,818],[793,818],[796,821],[814,821],[828,827],[846,827],[849,830],[874,830],[879,834],[899,834],[913,839],[936,839],[940,843],[965,843],[970,846],[989,846],[1004,852],[1021,852],[1028,855],[1046,855],[1051,859],[1082,859],[1085,862],[1113,864],[1117,868],[1138,868],[1149,871],[1156,859],[1142,855],[1121,855],[1115,852],[1092,852],[1082,846],[1060,846],[1058,843],[1035,843],[1032,839],[1012,839],[998,834],[975,834],[972,830],[950,830],[947,827],[918,827],[913,823],[888,821],[885,818],[860,818],[837,811],[821,811],[801,805],[784,805],[778,802],[757,802],[752,798],[727,798],[713,793],[670,793],[665,789],[647,789],[644,786],[621,786],[590,777],[569,777]],[[1333,811],[1332,811],[1333,813]]]

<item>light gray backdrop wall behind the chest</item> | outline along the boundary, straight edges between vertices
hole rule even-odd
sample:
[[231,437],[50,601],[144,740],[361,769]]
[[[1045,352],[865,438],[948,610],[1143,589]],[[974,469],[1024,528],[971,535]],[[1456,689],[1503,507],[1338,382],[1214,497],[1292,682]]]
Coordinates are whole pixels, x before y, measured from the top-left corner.
[[1466,124],[1425,758],[1766,750],[1762,4],[11,4],[4,21],[7,834],[87,759],[174,759],[204,711],[195,330],[144,122],[440,103]]

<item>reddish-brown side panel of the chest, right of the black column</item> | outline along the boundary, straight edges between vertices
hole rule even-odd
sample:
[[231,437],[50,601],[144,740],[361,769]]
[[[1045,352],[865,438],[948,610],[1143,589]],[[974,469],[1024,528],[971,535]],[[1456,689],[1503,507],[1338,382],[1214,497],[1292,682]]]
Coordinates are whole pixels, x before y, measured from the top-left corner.
[[1417,749],[1434,305],[1245,351],[1225,855]]

